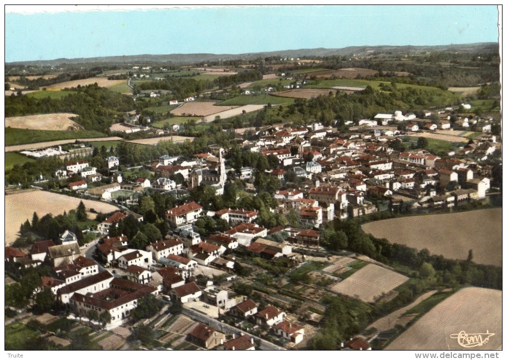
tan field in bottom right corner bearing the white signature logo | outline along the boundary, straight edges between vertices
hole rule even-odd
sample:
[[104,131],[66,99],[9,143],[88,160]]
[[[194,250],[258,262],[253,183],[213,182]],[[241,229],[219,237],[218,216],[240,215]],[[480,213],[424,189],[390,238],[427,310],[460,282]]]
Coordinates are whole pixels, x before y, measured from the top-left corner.
[[[481,346],[460,346],[457,334],[489,336]],[[465,342],[466,344],[466,342]],[[467,287],[417,320],[386,350],[498,350],[502,347],[502,292]]]

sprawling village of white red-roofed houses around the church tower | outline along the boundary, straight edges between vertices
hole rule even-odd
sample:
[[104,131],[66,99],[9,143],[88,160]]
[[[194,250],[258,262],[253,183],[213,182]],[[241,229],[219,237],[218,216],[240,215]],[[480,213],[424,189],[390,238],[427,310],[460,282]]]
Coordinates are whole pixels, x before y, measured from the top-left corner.
[[[93,150],[86,153],[78,147],[81,160],[66,157],[64,167],[54,169],[57,181],[67,184],[60,191],[122,209],[91,229],[96,236],[91,242],[78,243],[76,234],[65,231],[59,241],[35,241],[28,251],[7,246],[6,264],[49,265],[52,275],[42,276],[34,293],[50,291],[67,318],[87,321],[113,337],[121,338],[115,329],[133,329],[129,316],[150,295],[160,309],[149,323],[141,323],[163,334],[156,341],[159,347],[304,348],[316,334],[325,310],[320,301],[326,294],[382,303],[395,297],[394,289],[408,280],[323,239],[326,224],[379,211],[449,212],[462,204],[487,203],[494,176],[491,164],[500,151],[490,132],[493,121],[456,117],[455,110],[428,111],[421,118],[401,112],[378,114],[357,126],[347,124],[352,126],[345,132],[318,122],[264,127],[256,139],[238,142],[242,152],[268,159],[271,170],[262,172],[237,165],[233,148],[212,145],[207,153],[193,157],[166,154],[138,164],[136,170],[146,170],[147,176],[124,179],[119,157],[104,157],[107,174],[101,174],[87,160]],[[454,130],[449,130],[451,116]],[[468,124],[481,134],[468,139]],[[462,147],[427,150],[428,139],[436,134],[454,136]],[[415,138],[408,148],[401,145],[406,136]],[[60,151],[46,156],[61,155]],[[69,181],[77,176],[80,180]],[[94,186],[96,181],[107,184]],[[262,209],[212,210],[211,204],[192,197],[198,188],[210,189],[211,198],[229,196],[228,185],[238,182],[243,195],[256,197],[257,188],[262,188],[271,199]],[[139,235],[134,239],[118,234],[122,222],[147,223],[152,214],[129,207],[153,192],[176,199],[176,206],[164,210],[167,231],[158,232],[161,236],[149,243],[146,236],[143,242]],[[235,195],[233,202],[239,203]],[[260,219],[266,209],[276,221]],[[203,219],[220,224],[220,231],[216,226],[203,231]],[[327,251],[330,245],[336,250]],[[294,276],[305,268],[302,275],[311,276],[311,282],[299,280],[301,274]],[[374,276],[385,271],[392,281],[366,293],[354,285],[342,286],[351,281],[348,276],[367,269]],[[341,348],[371,349],[369,340],[376,335],[355,334],[342,339]]]

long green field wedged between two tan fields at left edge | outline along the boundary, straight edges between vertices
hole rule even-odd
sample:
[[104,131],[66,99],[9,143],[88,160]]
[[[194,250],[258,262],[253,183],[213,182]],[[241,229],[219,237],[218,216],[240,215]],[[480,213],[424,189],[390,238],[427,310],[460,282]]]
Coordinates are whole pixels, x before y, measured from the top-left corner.
[[52,130],[28,130],[28,129],[5,129],[5,146],[21,145],[25,143],[82,139],[87,137],[105,137],[98,131],[77,130],[77,131],[52,131]]

